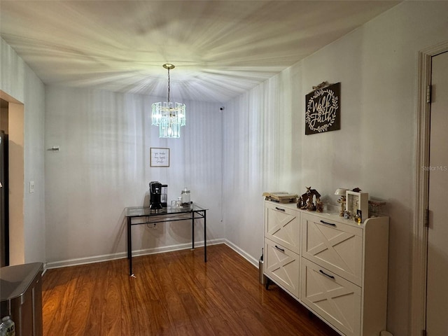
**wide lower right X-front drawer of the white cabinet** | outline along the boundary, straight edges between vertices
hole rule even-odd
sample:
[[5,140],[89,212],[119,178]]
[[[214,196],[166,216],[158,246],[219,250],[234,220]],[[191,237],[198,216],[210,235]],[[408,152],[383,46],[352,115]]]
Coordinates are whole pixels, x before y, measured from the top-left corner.
[[301,274],[302,302],[344,335],[360,335],[360,287],[304,258]]

